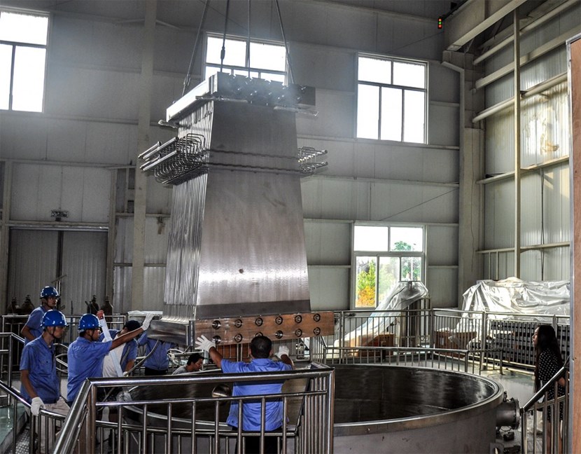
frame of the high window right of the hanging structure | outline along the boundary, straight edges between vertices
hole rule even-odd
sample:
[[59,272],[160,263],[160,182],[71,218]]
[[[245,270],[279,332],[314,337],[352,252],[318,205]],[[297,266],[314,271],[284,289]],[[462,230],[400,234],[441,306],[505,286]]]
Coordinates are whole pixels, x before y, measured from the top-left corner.
[[[372,58],[376,60],[384,60],[390,62],[390,81],[391,83],[382,83],[382,82],[372,82],[372,81],[362,81],[359,78],[359,62],[360,58]],[[393,67],[395,62],[402,62],[402,63],[411,63],[411,64],[420,64],[424,67],[424,81],[423,86],[424,88],[417,88],[408,85],[400,85],[393,83]],[[405,144],[428,144],[428,68],[429,64],[427,61],[422,60],[412,60],[406,59],[401,57],[390,57],[388,55],[377,55],[377,54],[370,54],[370,53],[357,53],[357,60],[356,60],[356,117],[355,117],[355,138],[357,140],[380,140],[380,141],[390,141],[390,142],[399,142]],[[359,87],[360,85],[366,85],[368,87],[377,87],[379,89],[379,94],[377,97],[377,106],[379,109],[378,112],[378,121],[377,121],[377,138],[369,138],[369,137],[358,137],[358,117],[359,117]],[[400,140],[395,139],[381,139],[381,117],[382,117],[382,107],[381,107],[381,100],[383,95],[383,88],[393,88],[395,90],[400,90],[401,93],[401,112],[400,112],[400,119],[401,119],[401,128],[400,128]],[[407,142],[404,140],[405,137],[405,92],[406,91],[414,91],[414,92],[422,92],[423,93],[423,141],[422,142]]]

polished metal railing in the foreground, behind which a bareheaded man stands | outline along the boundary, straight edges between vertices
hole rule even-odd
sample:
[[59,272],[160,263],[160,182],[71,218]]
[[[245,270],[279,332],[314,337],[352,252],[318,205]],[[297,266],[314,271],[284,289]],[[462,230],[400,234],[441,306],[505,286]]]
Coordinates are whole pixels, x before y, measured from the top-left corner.
[[[193,385],[211,389],[234,381],[272,380],[286,381],[281,393],[232,397],[218,392],[214,396],[211,393],[187,395],[185,392],[186,387],[190,390]],[[111,431],[118,453],[242,453],[248,437],[260,437],[261,446],[266,438],[276,437],[280,453],[291,450],[295,453],[332,453],[334,380],[334,370],[321,364],[314,365],[313,369],[280,373],[89,379],[83,383],[64,422],[55,452],[105,452],[105,443],[97,445],[97,439],[106,439],[106,432]],[[286,390],[288,383],[294,385],[290,390]],[[120,393],[113,401],[97,401],[99,390],[115,387],[131,388],[130,400],[120,399],[123,396]],[[172,387],[181,392],[181,397],[162,397]],[[147,396],[155,398],[139,397],[140,390],[146,390]],[[239,404],[240,420],[244,402],[257,400],[261,403],[262,422],[267,402],[282,401],[281,429],[265,432],[262,424],[260,432],[247,433],[225,424],[224,418],[232,402]],[[116,411],[117,422],[99,419],[104,408]]]

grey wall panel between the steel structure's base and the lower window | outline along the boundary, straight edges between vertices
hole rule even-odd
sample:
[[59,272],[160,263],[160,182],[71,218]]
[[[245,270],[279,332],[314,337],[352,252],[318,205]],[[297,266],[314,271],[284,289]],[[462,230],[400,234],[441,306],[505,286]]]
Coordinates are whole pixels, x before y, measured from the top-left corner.
[[309,266],[311,310],[349,310],[349,268]]

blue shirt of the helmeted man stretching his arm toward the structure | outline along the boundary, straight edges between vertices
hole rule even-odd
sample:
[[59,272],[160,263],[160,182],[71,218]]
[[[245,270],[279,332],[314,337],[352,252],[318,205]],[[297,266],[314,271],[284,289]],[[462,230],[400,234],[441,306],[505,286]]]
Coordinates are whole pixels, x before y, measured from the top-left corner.
[[92,342],[78,337],[69,345],[69,383],[66,384],[66,400],[72,402],[87,378],[103,375],[103,359],[111,350],[111,341]]

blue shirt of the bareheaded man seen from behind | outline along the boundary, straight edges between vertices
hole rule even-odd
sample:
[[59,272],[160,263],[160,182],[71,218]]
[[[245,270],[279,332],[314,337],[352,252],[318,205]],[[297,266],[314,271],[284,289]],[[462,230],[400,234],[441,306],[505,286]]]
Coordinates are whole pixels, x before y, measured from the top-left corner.
[[[253,358],[251,362],[232,362],[228,359],[222,360],[222,371],[224,373],[253,373],[253,372],[280,372],[290,371],[293,366],[283,362],[274,362],[269,358]],[[265,394],[279,394],[283,382],[255,382],[255,383],[235,383],[232,390],[232,397],[254,396]],[[281,427],[283,423],[283,403],[278,400],[267,400],[265,402],[265,430],[272,431]],[[246,431],[258,432],[260,430],[261,403],[257,401],[245,401],[242,408],[242,429]],[[226,420],[228,425],[238,427],[238,402],[232,401],[230,413]]]

